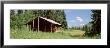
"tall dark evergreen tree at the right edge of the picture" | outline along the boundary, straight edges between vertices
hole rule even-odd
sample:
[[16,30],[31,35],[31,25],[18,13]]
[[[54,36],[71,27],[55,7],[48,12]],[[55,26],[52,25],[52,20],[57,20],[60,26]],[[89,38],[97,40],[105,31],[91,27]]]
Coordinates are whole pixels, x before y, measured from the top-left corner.
[[91,10],[92,15],[91,19],[92,21],[90,22],[91,28],[89,28],[89,32],[87,35],[89,36],[95,36],[95,35],[100,35],[101,33],[101,10]]

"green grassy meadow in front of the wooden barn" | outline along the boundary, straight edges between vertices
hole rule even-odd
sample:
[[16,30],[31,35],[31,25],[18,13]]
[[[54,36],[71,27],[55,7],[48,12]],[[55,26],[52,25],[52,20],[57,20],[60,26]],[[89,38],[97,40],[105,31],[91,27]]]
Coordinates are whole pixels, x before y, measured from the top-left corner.
[[[90,37],[84,37],[85,31],[81,30],[63,30],[61,32],[37,32],[23,30],[11,30],[11,39],[91,39]],[[97,38],[97,37],[93,37]]]

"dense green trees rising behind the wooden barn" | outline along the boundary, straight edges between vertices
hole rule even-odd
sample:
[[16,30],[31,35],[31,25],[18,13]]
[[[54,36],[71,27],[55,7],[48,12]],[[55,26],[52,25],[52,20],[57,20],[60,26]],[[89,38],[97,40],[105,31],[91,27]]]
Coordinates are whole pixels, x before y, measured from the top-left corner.
[[[16,14],[15,11],[17,12]],[[11,10],[10,16],[11,28],[21,28],[24,24],[38,16],[52,19],[62,24],[62,28],[67,28],[64,10]]]

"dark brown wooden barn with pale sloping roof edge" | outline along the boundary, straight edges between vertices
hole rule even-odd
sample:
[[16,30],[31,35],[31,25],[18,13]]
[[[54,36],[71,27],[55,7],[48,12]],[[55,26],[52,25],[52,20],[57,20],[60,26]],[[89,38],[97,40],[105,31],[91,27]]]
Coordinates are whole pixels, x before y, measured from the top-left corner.
[[51,19],[44,17],[37,17],[26,24],[31,30],[42,32],[58,32],[60,31],[61,24]]

